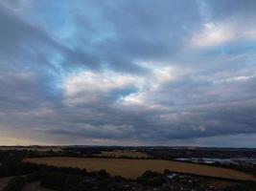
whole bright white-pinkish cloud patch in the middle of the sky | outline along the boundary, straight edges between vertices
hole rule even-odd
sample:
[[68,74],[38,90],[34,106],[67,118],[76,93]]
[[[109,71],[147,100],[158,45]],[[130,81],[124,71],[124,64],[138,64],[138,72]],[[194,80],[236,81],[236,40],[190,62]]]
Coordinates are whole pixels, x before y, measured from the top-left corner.
[[114,72],[96,73],[85,71],[70,76],[64,80],[63,89],[67,104],[80,104],[103,101],[115,91],[126,91],[131,88],[134,92],[116,97],[118,104],[123,106],[141,105],[155,107],[151,102],[153,96],[161,87],[170,81],[175,81],[188,70],[177,67],[149,67],[151,74],[137,76]]

